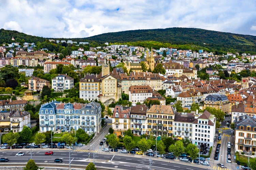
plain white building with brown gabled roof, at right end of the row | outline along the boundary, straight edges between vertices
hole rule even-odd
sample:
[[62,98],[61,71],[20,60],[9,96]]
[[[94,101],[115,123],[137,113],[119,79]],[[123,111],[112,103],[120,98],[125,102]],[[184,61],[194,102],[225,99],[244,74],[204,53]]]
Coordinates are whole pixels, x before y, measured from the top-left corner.
[[200,145],[200,143],[207,143],[208,147],[213,146],[215,136],[216,118],[208,111],[203,114],[195,116],[195,121],[192,124],[192,143]]

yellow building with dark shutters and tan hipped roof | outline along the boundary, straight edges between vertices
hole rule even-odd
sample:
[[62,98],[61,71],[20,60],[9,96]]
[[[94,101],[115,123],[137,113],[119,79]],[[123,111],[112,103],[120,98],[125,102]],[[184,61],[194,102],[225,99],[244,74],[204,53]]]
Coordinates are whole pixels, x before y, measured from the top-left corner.
[[153,105],[147,113],[147,134],[156,136],[173,135],[174,111],[169,105]]

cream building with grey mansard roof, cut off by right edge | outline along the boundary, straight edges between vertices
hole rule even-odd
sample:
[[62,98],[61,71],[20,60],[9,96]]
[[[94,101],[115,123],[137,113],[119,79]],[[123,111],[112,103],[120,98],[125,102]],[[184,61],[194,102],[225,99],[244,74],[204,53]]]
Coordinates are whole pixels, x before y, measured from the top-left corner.
[[[235,120],[235,152],[256,151],[256,119],[243,115]],[[248,154],[246,154],[248,155]]]

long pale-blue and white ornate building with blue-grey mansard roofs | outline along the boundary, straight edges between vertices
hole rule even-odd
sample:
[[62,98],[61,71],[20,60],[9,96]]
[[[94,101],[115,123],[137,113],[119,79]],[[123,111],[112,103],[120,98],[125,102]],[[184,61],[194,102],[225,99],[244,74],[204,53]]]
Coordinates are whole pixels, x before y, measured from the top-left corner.
[[40,131],[71,131],[82,129],[88,134],[101,129],[101,106],[99,103],[60,103],[51,101],[41,105],[39,111]]

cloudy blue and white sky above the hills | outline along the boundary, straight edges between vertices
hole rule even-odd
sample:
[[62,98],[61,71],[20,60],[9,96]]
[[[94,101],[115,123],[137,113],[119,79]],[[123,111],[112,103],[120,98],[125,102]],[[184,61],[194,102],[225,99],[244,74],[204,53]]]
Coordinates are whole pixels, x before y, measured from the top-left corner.
[[256,35],[256,0],[0,0],[0,26],[45,38],[201,28]]

